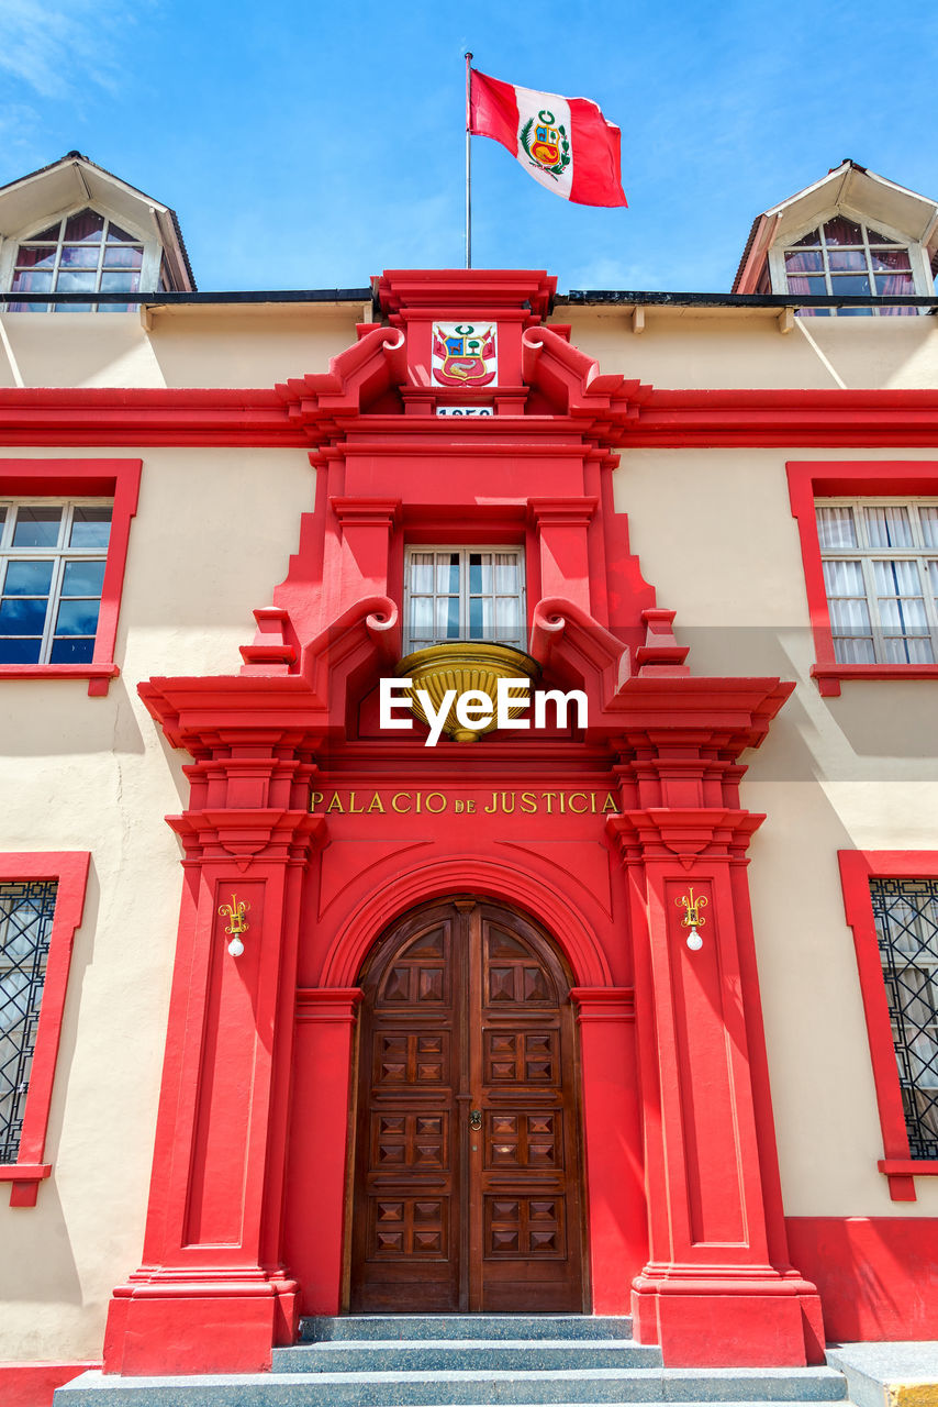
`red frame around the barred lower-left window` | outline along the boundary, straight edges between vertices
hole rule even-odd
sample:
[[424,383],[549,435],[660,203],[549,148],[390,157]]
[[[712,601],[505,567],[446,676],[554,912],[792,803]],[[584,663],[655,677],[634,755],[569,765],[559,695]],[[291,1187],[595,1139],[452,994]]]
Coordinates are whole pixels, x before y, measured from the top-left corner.
[[15,1164],[0,1169],[0,1179],[11,1182],[10,1206],[34,1207],[38,1183],[49,1175],[44,1164],[45,1135],[49,1126],[52,1082],[59,1054],[65,992],[72,962],[72,941],[84,910],[89,877],[87,850],[49,851],[48,854],[0,854],[0,881],[56,879],[55,915],[45,967],[45,988],[39,1009],[30,1090],[23,1114],[20,1154]]

